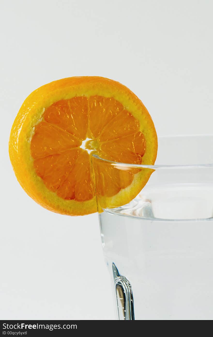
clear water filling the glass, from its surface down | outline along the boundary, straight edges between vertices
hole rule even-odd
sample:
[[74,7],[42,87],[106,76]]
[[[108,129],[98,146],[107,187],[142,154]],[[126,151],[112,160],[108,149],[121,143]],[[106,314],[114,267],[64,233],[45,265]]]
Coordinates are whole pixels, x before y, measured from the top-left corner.
[[99,215],[114,295],[113,263],[132,286],[135,319],[213,319],[212,191],[211,184],[147,186]]

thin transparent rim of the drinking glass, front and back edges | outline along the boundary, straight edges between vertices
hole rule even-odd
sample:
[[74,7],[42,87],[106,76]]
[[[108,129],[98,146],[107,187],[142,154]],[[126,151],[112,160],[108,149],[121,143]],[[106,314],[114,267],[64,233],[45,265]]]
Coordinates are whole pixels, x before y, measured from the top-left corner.
[[[167,139],[167,138],[193,138],[193,137],[213,137],[213,134],[180,134],[180,135],[166,135],[166,136],[159,136],[157,139],[161,140],[161,139]],[[180,165],[164,165],[164,164],[160,164],[160,165],[144,165],[144,164],[129,164],[129,163],[123,163],[123,162],[119,162],[119,161],[113,161],[113,160],[109,160],[109,159],[104,159],[99,157],[97,154],[92,154],[92,156],[96,159],[100,159],[103,162],[109,163],[113,166],[118,166],[118,167],[136,167],[136,168],[150,168],[152,170],[155,170],[156,168],[200,168],[200,167],[213,167],[213,159],[212,159],[212,163],[209,164],[180,164]]]

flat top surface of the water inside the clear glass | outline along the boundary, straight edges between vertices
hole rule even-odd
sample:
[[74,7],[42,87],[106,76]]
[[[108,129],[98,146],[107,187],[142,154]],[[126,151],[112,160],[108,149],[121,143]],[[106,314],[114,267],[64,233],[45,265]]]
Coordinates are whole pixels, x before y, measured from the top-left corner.
[[212,200],[213,184],[151,185],[129,204],[105,211],[155,221],[211,219]]

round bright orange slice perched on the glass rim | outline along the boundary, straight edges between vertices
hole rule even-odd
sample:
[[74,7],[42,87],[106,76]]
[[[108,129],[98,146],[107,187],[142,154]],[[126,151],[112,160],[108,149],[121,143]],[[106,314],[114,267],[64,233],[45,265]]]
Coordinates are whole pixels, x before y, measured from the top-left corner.
[[[26,98],[11,129],[9,155],[17,180],[38,204],[67,215],[96,212],[94,153],[116,162],[154,164],[154,124],[127,87],[97,76],[71,77]],[[119,186],[115,169],[103,167],[101,174],[108,182],[102,193],[110,205],[116,199],[116,206],[127,189],[129,202],[149,178],[127,172]]]

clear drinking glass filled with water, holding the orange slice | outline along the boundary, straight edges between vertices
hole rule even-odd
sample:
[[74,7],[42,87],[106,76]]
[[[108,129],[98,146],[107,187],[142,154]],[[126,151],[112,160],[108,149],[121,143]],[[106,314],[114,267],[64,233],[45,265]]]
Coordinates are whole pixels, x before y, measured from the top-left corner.
[[[155,165],[94,155],[93,167],[116,318],[213,319],[213,135],[159,138]],[[109,205],[106,168],[119,186],[123,172],[150,178]]]

